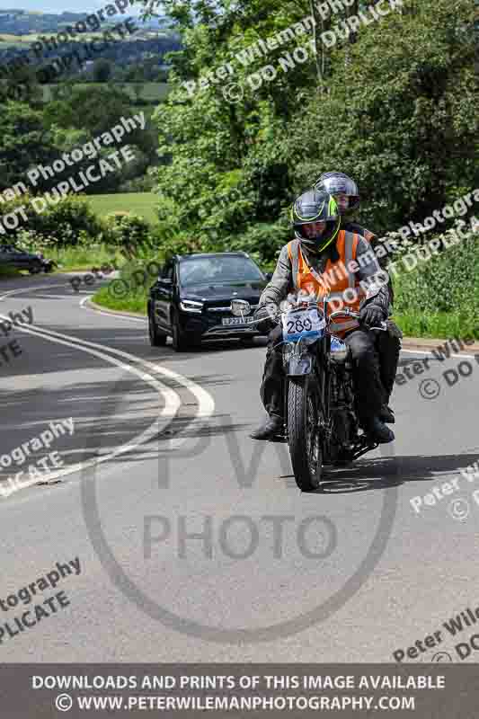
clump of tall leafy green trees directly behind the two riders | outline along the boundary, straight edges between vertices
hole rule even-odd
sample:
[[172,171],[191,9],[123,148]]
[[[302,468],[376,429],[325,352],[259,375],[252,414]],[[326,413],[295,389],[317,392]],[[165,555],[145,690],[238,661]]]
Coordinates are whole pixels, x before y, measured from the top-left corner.
[[[172,90],[155,113],[159,153],[170,163],[158,173],[160,216],[205,246],[212,238],[219,246],[240,243],[270,259],[284,241],[289,203],[326,170],[358,180],[368,198],[365,219],[378,231],[421,220],[477,186],[469,0],[404,0],[354,33],[344,21],[369,12],[364,2],[326,20],[310,0],[161,5],[182,50],[169,55]],[[241,50],[309,14],[313,37],[238,61]],[[321,40],[324,31],[341,31],[332,48]],[[279,58],[311,47],[310,40],[317,55],[311,50],[306,62],[280,66]],[[215,71],[226,63],[233,74],[218,80]],[[276,70],[273,81],[252,79],[265,65]],[[238,102],[226,98],[230,83],[239,86]]]

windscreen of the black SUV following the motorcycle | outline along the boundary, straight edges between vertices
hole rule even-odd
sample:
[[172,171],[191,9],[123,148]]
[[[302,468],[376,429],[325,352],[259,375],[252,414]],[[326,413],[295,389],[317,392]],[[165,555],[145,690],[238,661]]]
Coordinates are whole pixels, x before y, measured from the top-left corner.
[[180,263],[183,286],[210,282],[258,282],[264,280],[260,269],[247,257],[198,257]]

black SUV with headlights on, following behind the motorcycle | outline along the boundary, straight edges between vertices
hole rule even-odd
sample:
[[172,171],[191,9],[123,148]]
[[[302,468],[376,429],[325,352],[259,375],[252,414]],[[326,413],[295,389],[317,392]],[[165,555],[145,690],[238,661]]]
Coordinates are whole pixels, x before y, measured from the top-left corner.
[[[150,288],[148,326],[154,347],[173,337],[173,349],[187,350],[201,340],[235,337],[252,342],[258,331],[253,311],[271,274],[263,274],[246,253],[176,255]],[[250,314],[235,317],[232,299],[250,303]]]

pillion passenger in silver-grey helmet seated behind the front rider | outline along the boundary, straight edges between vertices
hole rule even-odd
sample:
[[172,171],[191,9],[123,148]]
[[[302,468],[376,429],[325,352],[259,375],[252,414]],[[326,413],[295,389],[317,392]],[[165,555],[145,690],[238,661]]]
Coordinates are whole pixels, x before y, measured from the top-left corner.
[[[351,222],[349,216],[359,209],[359,189],[358,185],[347,174],[339,172],[323,173],[315,182],[315,189],[329,192],[333,195],[334,200],[338,204],[340,214],[343,218],[342,227],[348,232],[356,232],[362,235],[371,247],[374,249],[377,242],[377,235],[370,230]],[[385,269],[386,262],[378,261],[379,265]],[[392,314],[392,306],[395,301],[394,289],[391,280],[389,280],[387,288],[389,290],[389,314]],[[403,333],[391,319],[386,320],[387,332],[377,333],[377,351],[379,353],[379,368],[381,381],[385,388],[385,406],[382,409],[381,416],[385,422],[395,422],[395,415],[391,407],[389,407],[389,399],[395,386],[395,376],[397,373],[397,364],[399,362],[399,353],[401,351],[401,340]]]

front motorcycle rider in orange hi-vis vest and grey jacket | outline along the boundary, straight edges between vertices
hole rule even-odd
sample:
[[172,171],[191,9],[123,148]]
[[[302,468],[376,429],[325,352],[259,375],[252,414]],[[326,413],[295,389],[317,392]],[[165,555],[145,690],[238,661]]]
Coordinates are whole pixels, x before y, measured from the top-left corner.
[[[359,422],[370,439],[385,443],[395,435],[381,421],[384,389],[381,383],[374,333],[388,313],[389,296],[384,281],[378,281],[380,268],[368,242],[357,233],[342,229],[342,217],[333,197],[324,191],[309,190],[291,209],[295,239],[284,245],[269,284],[262,291],[255,318],[262,332],[271,330],[264,365],[261,398],[269,417],[252,439],[273,439],[282,431],[284,408],[284,370],[281,353],[282,330],[272,315],[288,293],[314,291],[315,296],[342,297],[350,288],[356,299],[351,309],[360,313],[359,322],[346,316],[335,319],[332,329],[342,334],[351,351],[353,380],[359,407]],[[356,262],[368,253],[363,262]],[[364,262],[367,260],[367,262]],[[354,262],[353,271],[350,264]],[[347,268],[347,272],[344,270]],[[368,292],[361,287],[368,283]],[[360,323],[360,324],[359,324]],[[271,327],[273,329],[271,329]]]

